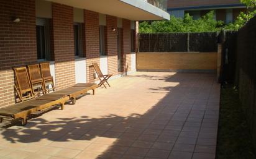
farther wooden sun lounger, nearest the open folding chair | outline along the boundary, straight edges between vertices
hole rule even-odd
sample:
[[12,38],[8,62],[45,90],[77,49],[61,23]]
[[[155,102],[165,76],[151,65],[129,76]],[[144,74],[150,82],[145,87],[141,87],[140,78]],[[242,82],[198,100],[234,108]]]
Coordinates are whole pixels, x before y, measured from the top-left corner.
[[76,97],[80,95],[84,95],[89,90],[93,90],[93,95],[94,95],[95,89],[97,87],[98,87],[97,84],[79,83],[79,84],[73,85],[72,87],[65,88],[63,90],[58,90],[57,92],[53,92],[50,94],[67,95],[70,98],[72,104],[75,105]]

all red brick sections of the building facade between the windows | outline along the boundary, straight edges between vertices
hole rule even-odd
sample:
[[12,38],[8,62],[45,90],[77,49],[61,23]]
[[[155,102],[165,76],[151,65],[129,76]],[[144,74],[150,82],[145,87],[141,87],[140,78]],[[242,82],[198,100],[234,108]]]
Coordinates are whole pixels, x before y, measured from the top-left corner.
[[[37,63],[35,0],[0,0],[0,107],[15,103],[12,67]],[[18,17],[21,22],[13,22]],[[99,64],[99,13],[84,10],[83,56],[87,82],[94,82],[93,62]],[[52,3],[50,60],[55,61],[57,90],[75,84],[73,7]],[[122,72],[130,71],[130,20],[122,20]],[[105,47],[108,73],[117,73],[117,17],[106,15]],[[136,39],[136,38],[135,38]]]

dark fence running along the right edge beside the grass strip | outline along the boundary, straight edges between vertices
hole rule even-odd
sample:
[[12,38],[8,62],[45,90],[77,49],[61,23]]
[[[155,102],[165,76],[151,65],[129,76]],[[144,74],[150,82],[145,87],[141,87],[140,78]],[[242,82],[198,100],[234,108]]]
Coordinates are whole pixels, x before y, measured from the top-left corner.
[[256,145],[256,17],[237,33],[235,83]]

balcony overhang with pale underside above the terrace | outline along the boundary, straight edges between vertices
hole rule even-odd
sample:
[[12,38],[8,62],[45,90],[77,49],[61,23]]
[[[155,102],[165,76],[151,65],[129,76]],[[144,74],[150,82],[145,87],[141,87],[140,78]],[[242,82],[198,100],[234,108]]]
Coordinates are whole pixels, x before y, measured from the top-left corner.
[[169,20],[170,15],[144,0],[47,0],[129,20]]

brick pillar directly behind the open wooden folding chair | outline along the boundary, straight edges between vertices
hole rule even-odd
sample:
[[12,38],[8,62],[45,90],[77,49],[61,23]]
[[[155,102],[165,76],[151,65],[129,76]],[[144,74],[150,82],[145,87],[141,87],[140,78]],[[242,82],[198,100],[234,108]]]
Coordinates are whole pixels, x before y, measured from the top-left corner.
[[86,80],[94,82],[93,62],[99,64],[99,13],[84,11],[85,15],[85,51]]

